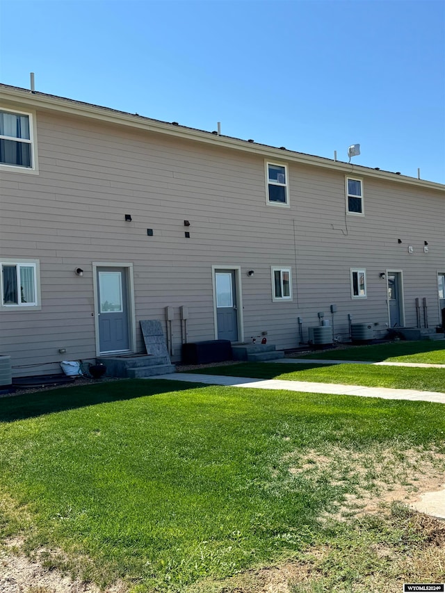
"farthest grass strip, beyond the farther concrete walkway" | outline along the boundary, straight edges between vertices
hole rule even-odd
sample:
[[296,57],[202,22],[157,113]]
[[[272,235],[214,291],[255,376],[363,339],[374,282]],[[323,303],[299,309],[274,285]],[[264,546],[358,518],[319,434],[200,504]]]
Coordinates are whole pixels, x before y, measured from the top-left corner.
[[445,364],[445,341],[400,341],[312,352],[302,358]]

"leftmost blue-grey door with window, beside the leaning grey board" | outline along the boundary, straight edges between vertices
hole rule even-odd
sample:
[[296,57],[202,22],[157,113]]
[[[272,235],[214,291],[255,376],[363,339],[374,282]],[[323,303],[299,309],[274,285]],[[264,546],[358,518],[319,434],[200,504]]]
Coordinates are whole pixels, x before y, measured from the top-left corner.
[[128,351],[129,309],[125,268],[97,268],[97,309],[100,352]]

